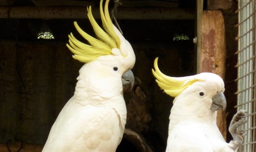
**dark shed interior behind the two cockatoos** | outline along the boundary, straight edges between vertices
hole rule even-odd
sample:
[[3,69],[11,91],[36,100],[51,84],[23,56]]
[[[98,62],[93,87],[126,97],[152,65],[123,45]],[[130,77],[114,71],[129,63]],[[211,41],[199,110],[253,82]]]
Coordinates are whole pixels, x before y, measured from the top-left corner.
[[[2,8],[66,6],[98,7],[99,2],[59,0],[6,0]],[[196,1],[121,1],[118,9],[172,9],[179,14],[189,15],[174,19],[157,18],[137,19],[136,11],[130,16],[117,16],[117,22],[124,37],[131,43],[136,55],[132,69],[137,77],[136,84],[140,93],[145,95],[143,103],[133,100],[134,93],[125,93],[127,105],[127,126],[142,134],[153,151],[165,151],[169,115],[173,98],[163,93],[156,84],[151,69],[156,57],[159,57],[160,70],[169,76],[189,76],[196,74],[195,9]],[[204,3],[207,6],[207,1]],[[234,15],[237,2],[232,7],[222,10],[226,28],[226,98],[228,102],[227,124],[235,109],[236,97],[236,56],[237,43],[234,38],[237,29],[234,27],[237,16]],[[109,8],[113,8],[111,1]],[[86,9],[84,7],[84,9]],[[117,9],[117,14],[119,13]],[[1,11],[0,11],[1,12]],[[154,13],[154,11],[152,11]],[[94,14],[94,12],[93,12]],[[97,13],[95,13],[97,14]],[[145,12],[147,14],[147,12]],[[86,16],[86,14],[84,14]],[[192,16],[192,17],[191,17]],[[186,18],[187,17],[187,18]],[[134,19],[133,19],[134,18]],[[67,35],[72,32],[80,41],[85,40],[74,28],[73,22],[88,34],[94,35],[88,19],[73,18],[0,18],[0,144],[7,146],[15,141],[31,145],[44,145],[49,131],[65,103],[73,96],[76,77],[83,63],[72,58],[72,53],[65,46]],[[101,21],[96,17],[101,25]],[[113,21],[114,22],[114,21]],[[37,39],[38,31],[45,27],[50,29],[54,39]],[[136,85],[135,85],[136,86]],[[228,88],[228,89],[227,89]],[[137,94],[138,95],[138,94]],[[11,142],[11,141],[12,142]],[[227,141],[231,140],[227,135]],[[39,148],[40,149],[40,148]],[[117,151],[140,151],[125,138]]]

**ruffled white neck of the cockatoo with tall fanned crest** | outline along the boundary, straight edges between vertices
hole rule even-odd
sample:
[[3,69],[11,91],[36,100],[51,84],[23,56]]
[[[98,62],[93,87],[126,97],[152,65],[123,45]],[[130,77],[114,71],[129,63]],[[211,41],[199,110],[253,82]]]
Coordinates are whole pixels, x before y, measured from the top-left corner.
[[106,101],[115,96],[122,96],[122,81],[120,78],[104,75],[104,69],[97,69],[97,61],[86,63],[79,70],[74,97],[82,101],[80,104],[87,104],[86,100],[94,101],[99,104],[100,101]]

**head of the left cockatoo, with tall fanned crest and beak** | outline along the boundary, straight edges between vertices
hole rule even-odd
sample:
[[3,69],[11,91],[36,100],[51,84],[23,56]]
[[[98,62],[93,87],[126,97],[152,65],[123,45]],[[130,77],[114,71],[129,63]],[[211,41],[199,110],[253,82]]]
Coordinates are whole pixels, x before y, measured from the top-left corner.
[[[94,64],[94,68],[100,75],[104,76],[122,76],[123,87],[132,89],[134,76],[131,72],[135,64],[135,54],[130,43],[123,37],[120,31],[113,25],[106,0],[104,11],[100,1],[100,16],[104,30],[96,23],[92,16],[91,6],[87,8],[88,19],[94,29],[97,38],[94,38],[84,32],[76,22],[74,22],[77,31],[88,41],[84,44],[77,40],[72,33],[68,35],[69,44],[67,47],[74,53],[73,58],[86,63]],[[131,86],[132,85],[132,86]],[[127,88],[124,88],[124,90]]]

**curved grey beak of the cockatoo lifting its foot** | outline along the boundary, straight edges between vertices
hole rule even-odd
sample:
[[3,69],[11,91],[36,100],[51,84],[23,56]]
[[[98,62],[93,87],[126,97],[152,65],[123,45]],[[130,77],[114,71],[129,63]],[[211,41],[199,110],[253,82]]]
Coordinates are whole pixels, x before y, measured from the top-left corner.
[[219,93],[217,93],[213,98],[212,98],[212,104],[211,104],[211,111],[218,111],[221,108],[223,110],[226,109],[227,106],[227,101],[226,98],[223,94],[222,91],[220,91]]

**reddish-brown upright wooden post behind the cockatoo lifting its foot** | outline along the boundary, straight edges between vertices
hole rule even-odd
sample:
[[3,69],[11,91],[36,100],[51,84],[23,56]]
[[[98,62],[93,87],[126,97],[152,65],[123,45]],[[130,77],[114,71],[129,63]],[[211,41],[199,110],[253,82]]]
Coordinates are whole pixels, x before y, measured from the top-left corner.
[[[220,11],[203,11],[201,34],[201,72],[210,72],[225,76],[225,27]],[[217,126],[226,139],[226,113],[217,112]]]

